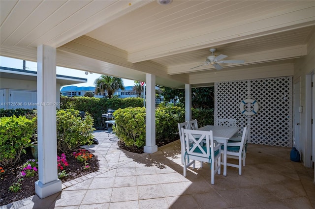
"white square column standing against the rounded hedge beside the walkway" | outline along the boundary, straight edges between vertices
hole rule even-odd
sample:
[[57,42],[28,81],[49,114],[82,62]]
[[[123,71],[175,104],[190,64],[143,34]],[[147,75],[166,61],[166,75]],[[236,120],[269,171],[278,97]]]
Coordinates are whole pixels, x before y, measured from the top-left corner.
[[146,146],[145,153],[158,152],[156,145],[156,76],[146,74]]

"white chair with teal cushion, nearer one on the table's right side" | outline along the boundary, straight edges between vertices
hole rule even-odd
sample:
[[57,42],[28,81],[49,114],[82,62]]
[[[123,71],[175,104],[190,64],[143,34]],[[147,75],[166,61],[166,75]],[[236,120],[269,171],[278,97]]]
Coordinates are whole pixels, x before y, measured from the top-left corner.
[[[227,143],[227,150],[226,150],[226,157],[227,158],[234,158],[238,159],[238,164],[233,163],[226,163],[227,166],[238,168],[238,174],[242,175],[242,160],[243,166],[245,166],[245,159],[246,159],[246,151],[245,151],[245,144],[247,140],[249,124],[244,127],[242,140],[240,142],[228,142]],[[223,146],[221,147],[221,155],[223,155],[224,150]]]

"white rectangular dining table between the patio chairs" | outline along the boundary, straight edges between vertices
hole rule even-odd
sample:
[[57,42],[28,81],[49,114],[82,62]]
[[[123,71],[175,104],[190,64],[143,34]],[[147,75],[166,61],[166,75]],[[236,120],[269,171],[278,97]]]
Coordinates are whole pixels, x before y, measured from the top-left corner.
[[239,131],[240,127],[226,127],[226,126],[211,126],[207,125],[204,127],[200,127],[198,130],[200,131],[212,131],[213,139],[219,143],[223,144],[223,176],[226,176],[226,149],[227,149],[227,141]]

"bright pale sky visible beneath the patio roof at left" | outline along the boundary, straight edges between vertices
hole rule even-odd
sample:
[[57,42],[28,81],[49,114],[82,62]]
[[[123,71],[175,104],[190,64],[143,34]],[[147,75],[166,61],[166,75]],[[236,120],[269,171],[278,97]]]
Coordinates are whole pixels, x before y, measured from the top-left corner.
[[[23,69],[23,60],[0,56],[0,66],[8,67],[8,68]],[[26,61],[25,67],[26,67],[26,70],[37,71],[36,62]],[[86,83],[74,84],[75,86],[79,86],[79,87],[80,86],[94,86],[95,79],[101,76],[101,74],[96,74],[96,73],[93,73],[93,74],[89,73],[88,75],[85,75],[85,71],[63,68],[63,67],[58,67],[58,66],[57,66],[56,71],[58,75],[72,76],[72,77],[78,77],[78,78],[87,78],[88,82]],[[124,81],[124,86],[134,86],[133,80],[128,80],[128,79],[123,78],[123,81]]]

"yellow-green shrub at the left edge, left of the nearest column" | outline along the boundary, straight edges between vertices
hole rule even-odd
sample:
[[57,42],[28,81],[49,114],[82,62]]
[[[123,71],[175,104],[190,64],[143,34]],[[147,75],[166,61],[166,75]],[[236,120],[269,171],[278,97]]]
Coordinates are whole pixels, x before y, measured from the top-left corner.
[[36,118],[25,116],[0,118],[0,165],[14,164],[26,153],[24,148],[31,146],[35,124]]

